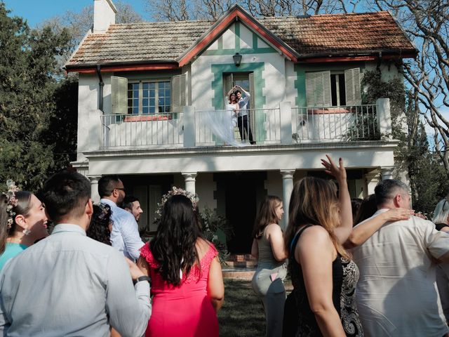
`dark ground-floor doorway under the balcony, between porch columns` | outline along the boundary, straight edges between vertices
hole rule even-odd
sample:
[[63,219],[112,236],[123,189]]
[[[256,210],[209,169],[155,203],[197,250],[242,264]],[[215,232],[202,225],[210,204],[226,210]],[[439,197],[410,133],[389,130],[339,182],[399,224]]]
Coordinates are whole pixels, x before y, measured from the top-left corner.
[[[232,254],[251,251],[257,205],[267,194],[264,190],[265,172],[215,173],[218,211],[226,216],[234,230],[227,239],[227,249]],[[220,192],[218,192],[220,191]]]

